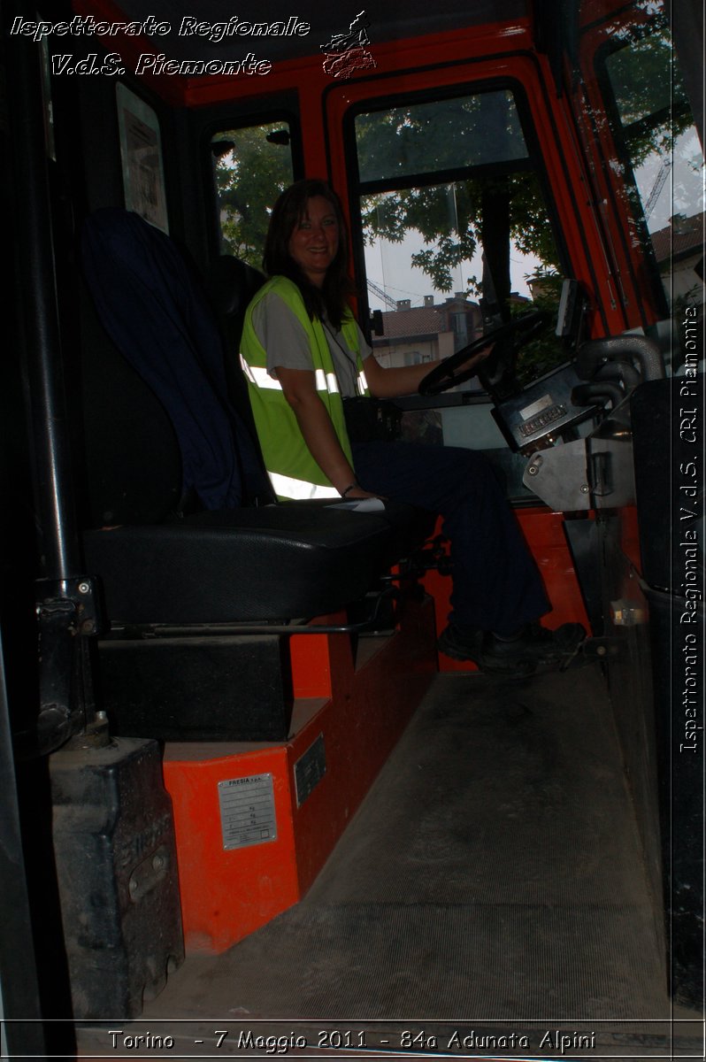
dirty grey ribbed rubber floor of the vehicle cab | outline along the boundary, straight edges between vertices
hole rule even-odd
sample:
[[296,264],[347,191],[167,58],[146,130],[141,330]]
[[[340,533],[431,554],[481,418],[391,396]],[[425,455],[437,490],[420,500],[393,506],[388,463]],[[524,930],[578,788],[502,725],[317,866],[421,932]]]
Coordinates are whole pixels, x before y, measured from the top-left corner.
[[668,1018],[655,925],[600,673],[444,675],[305,900],[144,1016]]

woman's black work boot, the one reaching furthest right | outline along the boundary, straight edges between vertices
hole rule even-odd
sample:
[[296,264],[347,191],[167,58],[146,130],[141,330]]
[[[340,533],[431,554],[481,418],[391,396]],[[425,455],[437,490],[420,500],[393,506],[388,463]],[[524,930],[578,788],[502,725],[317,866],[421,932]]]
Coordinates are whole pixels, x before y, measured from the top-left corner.
[[476,663],[487,674],[522,676],[537,669],[556,669],[575,656],[585,637],[581,623],[564,623],[555,631],[528,623],[507,636],[487,631]]

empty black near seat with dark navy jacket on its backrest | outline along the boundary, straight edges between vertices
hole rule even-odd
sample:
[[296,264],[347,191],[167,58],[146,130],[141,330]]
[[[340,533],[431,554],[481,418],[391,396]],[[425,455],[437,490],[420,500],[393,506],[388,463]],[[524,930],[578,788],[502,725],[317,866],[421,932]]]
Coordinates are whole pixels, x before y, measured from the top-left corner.
[[188,259],[137,215],[104,209],[85,223],[83,262],[113,341],[93,327],[84,372],[85,561],[108,618],[281,621],[364,595],[414,511],[262,504],[270,485],[228,400],[218,325]]

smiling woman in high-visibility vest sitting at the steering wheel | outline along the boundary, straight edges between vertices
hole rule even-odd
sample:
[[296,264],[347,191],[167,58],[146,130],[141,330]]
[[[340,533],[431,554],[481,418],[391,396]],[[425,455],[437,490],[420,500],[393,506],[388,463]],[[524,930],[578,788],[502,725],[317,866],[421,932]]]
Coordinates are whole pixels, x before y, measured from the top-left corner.
[[412,394],[434,363],[379,364],[348,307],[347,261],[335,194],[322,181],[292,185],[272,213],[263,259],[270,280],[247,309],[241,340],[275,493],[391,498],[441,514],[453,563],[452,611],[441,651],[490,673],[556,666],[575,652],[585,632],[578,623],[549,631],[537,622],[549,601],[485,458],[461,448],[349,439],[344,399]]

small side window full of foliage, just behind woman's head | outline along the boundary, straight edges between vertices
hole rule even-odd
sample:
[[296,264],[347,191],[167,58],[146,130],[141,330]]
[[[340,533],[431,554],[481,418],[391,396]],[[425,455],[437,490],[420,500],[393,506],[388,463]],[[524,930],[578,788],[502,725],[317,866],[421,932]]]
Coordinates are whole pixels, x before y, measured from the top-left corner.
[[262,268],[272,207],[292,183],[287,122],[223,130],[211,137],[221,253]]

